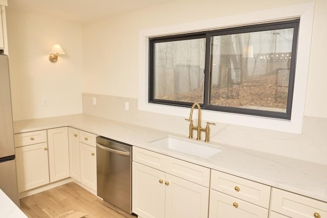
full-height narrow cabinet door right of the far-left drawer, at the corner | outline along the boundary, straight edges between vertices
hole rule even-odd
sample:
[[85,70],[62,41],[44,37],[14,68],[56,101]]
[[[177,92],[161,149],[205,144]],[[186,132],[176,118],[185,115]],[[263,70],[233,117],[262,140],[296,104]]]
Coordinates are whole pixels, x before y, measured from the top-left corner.
[[48,129],[50,182],[69,177],[67,127]]

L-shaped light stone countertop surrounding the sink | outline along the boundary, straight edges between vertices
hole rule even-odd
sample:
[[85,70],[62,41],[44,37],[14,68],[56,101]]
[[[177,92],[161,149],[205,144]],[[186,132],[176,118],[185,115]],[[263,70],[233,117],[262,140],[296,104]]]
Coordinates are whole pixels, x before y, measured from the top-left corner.
[[[222,146],[223,150],[210,158],[204,159],[149,143],[149,141],[164,138],[168,135],[189,140],[187,135],[188,129],[185,129],[184,136],[180,136],[157,129],[78,114],[15,121],[14,133],[32,132],[61,126],[71,126],[86,132],[327,202],[327,165],[215,142],[210,142],[207,145],[218,148]],[[193,139],[193,141],[196,140]]]

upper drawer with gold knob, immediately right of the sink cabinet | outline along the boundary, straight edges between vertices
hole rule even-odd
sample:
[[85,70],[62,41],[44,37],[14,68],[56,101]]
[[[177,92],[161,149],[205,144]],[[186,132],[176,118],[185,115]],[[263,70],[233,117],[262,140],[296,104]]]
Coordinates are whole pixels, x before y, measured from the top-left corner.
[[212,170],[211,188],[261,207],[269,208],[270,186]]

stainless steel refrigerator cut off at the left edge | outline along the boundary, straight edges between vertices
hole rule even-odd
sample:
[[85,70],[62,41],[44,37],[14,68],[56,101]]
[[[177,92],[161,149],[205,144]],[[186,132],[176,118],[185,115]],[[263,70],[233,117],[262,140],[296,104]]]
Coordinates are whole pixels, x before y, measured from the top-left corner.
[[19,206],[7,55],[0,55],[0,189]]

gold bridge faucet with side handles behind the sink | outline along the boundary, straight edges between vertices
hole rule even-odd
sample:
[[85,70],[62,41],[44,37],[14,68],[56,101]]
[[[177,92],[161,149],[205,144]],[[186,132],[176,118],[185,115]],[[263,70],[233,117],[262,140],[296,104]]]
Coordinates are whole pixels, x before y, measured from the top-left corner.
[[[193,111],[195,106],[198,107],[198,125],[194,126],[193,125]],[[206,122],[206,127],[203,128],[201,127],[201,107],[200,104],[198,102],[195,102],[192,107],[191,107],[191,113],[190,113],[190,118],[189,119],[185,119],[187,121],[190,122],[190,134],[189,134],[189,138],[192,139],[193,138],[193,129],[196,129],[198,131],[197,134],[197,138],[196,140],[201,140],[201,132],[205,132],[205,142],[209,142],[209,133],[210,133],[210,128],[209,125],[216,125],[215,123],[210,123],[210,122]]]

